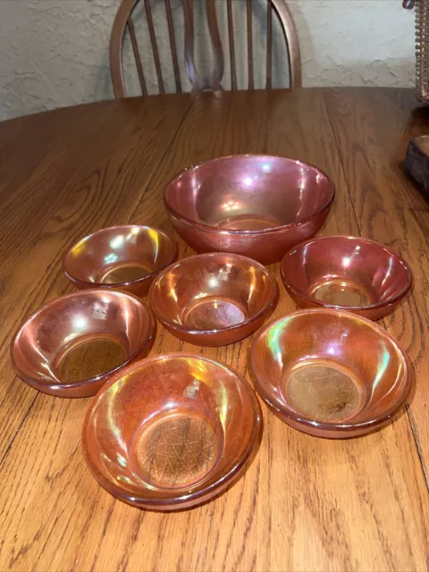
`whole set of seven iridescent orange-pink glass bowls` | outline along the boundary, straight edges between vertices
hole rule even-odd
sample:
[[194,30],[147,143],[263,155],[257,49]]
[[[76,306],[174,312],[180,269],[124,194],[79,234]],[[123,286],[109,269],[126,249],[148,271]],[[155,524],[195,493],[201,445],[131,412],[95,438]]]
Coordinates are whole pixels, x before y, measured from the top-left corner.
[[[164,194],[175,230],[206,254],[177,261],[168,234],[139,225],[97,231],[66,252],[64,273],[80,291],[22,324],[11,359],[40,391],[97,393],[83,446],[107,491],[143,508],[193,506],[240,475],[261,435],[257,397],[229,368],[185,353],[138,361],[152,347],[155,316],[198,346],[258,330],[249,357],[257,392],[306,433],[367,433],[405,402],[408,357],[367,318],[400,303],[411,273],[374,241],[312,238],[333,197],[311,165],[223,157],[181,172]],[[265,264],[281,260],[284,287],[306,309],[263,327],[279,297]]]

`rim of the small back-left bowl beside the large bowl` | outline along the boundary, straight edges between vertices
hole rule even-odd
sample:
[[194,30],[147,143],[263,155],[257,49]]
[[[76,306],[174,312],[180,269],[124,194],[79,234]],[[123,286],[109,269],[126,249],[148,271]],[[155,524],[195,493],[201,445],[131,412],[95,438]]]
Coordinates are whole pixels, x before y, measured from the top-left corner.
[[[67,270],[67,265],[66,265],[67,257],[69,257],[71,250],[73,248],[76,248],[84,240],[93,239],[94,236],[96,236],[98,234],[104,234],[107,231],[114,231],[117,229],[131,229],[131,228],[139,228],[139,229],[145,229],[145,230],[148,229],[151,231],[159,232],[160,234],[164,235],[164,238],[167,240],[167,243],[169,243],[170,246],[172,247],[172,256],[168,259],[168,262],[166,262],[163,266],[161,266],[161,268],[154,270],[150,274],[147,274],[147,276],[143,276],[142,278],[135,278],[133,280],[129,280],[126,282],[112,282],[112,283],[90,282],[88,280],[81,280],[80,278],[76,278]],[[172,240],[172,238],[169,234],[167,234],[165,231],[162,231],[161,229],[158,229],[156,226],[147,226],[146,224],[117,224],[114,226],[106,226],[105,228],[99,229],[98,231],[94,231],[94,232],[91,232],[90,234],[87,234],[87,236],[84,236],[80,240],[74,241],[68,248],[66,248],[66,250],[63,254],[63,257],[62,257],[62,263],[61,264],[62,264],[62,268],[63,268],[63,273],[70,280],[70,282],[72,282],[73,284],[81,284],[82,286],[85,286],[85,287],[89,286],[90,288],[104,288],[104,289],[108,289],[108,290],[118,290],[118,289],[120,290],[121,288],[126,288],[128,286],[133,286],[135,284],[139,284],[139,283],[143,283],[143,282],[147,282],[147,281],[151,280],[154,276],[156,276],[157,273],[164,270],[164,268],[166,266],[171,265],[172,262],[174,262],[174,260],[176,260],[178,253],[179,253],[179,249],[177,247],[177,242],[175,240]]]

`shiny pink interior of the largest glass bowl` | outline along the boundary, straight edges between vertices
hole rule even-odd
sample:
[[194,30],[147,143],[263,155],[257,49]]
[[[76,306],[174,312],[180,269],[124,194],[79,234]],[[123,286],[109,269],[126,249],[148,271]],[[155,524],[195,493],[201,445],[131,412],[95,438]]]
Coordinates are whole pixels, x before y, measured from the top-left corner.
[[167,208],[195,223],[261,231],[306,220],[332,199],[315,167],[283,157],[231,156],[193,167],[167,187]]

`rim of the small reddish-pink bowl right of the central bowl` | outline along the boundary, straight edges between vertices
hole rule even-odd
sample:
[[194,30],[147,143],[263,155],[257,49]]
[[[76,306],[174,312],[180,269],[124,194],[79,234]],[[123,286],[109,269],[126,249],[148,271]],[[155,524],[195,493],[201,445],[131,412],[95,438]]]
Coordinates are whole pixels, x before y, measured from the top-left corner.
[[[296,288],[284,275],[283,267],[284,267],[284,265],[286,265],[286,262],[288,261],[288,257],[290,257],[296,250],[304,248],[308,244],[311,244],[313,242],[319,242],[322,240],[332,240],[332,239],[354,240],[356,242],[365,242],[366,244],[371,244],[375,247],[378,247],[378,248],[381,248],[382,250],[385,250],[392,257],[395,257],[398,260],[398,262],[400,263],[402,268],[407,273],[407,282],[406,282],[405,286],[402,288],[402,290],[400,290],[400,292],[396,293],[394,296],[391,296],[390,299],[374,302],[374,304],[366,304],[366,305],[361,305],[361,306],[341,306],[339,304],[328,304],[326,302],[323,302],[322,300],[318,300],[318,299],[313,298],[312,296],[309,296],[307,294],[307,292],[305,292],[304,290],[299,290],[299,288]],[[303,242],[299,242],[299,244],[296,244],[294,247],[290,248],[290,250],[288,250],[288,252],[286,252],[286,254],[282,257],[282,261],[280,263],[280,273],[282,276],[283,285],[286,288],[286,290],[290,290],[296,296],[304,298],[308,302],[312,302],[314,304],[317,304],[317,306],[320,306],[320,307],[325,307],[328,309],[331,308],[331,309],[338,309],[338,310],[349,310],[349,311],[374,310],[374,309],[381,309],[383,307],[387,307],[390,304],[393,304],[394,302],[396,302],[397,300],[404,298],[407,295],[408,290],[411,288],[411,285],[413,283],[413,273],[411,272],[411,268],[409,267],[408,263],[405,262],[405,260],[402,257],[400,257],[400,255],[397,252],[395,252],[395,250],[392,250],[391,248],[385,247],[383,244],[380,244],[380,242],[377,242],[376,240],[366,239],[363,237],[353,236],[353,235],[348,235],[348,234],[337,234],[337,235],[330,234],[327,236],[313,237],[312,239],[308,239],[308,240],[304,240]]]

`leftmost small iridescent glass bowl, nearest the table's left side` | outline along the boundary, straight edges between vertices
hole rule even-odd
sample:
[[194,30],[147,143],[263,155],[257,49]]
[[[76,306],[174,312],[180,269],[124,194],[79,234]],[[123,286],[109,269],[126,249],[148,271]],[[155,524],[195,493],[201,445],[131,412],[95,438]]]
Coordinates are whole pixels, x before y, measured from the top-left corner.
[[112,374],[144,357],[156,331],[147,304],[115,290],[82,290],[41,307],[10,347],[15,373],[59,397],[95,395]]

